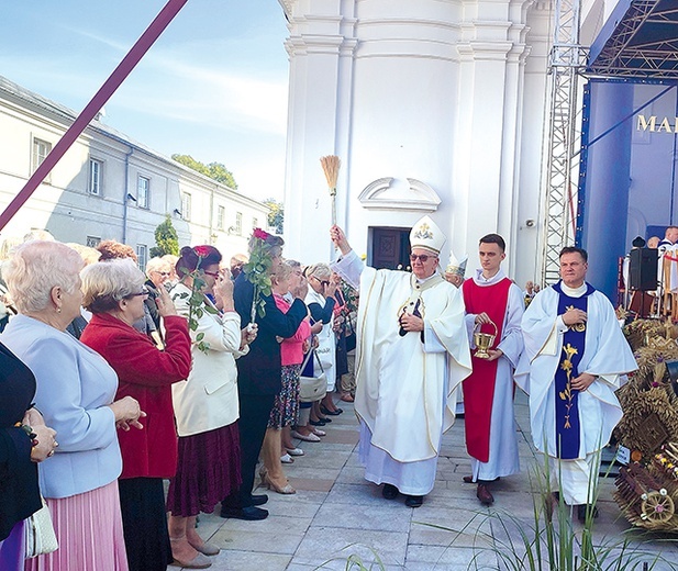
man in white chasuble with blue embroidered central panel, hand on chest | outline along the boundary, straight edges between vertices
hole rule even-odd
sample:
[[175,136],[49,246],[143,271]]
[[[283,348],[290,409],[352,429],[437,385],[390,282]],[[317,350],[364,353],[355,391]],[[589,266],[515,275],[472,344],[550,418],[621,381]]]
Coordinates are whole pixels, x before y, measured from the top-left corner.
[[[614,394],[637,366],[610,301],[585,281],[586,250],[560,251],[560,281],[522,320],[525,350],[515,382],[530,395],[532,438],[548,458],[552,490],[583,520],[622,408]],[[594,510],[588,510],[596,515]]]

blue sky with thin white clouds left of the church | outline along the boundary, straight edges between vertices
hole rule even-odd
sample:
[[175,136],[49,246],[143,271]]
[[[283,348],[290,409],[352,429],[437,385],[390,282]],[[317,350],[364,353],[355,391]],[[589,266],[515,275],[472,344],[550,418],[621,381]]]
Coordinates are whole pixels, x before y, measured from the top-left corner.
[[[0,0],[0,75],[77,113],[166,0]],[[278,0],[188,0],[104,107],[154,150],[282,200],[289,63]]]

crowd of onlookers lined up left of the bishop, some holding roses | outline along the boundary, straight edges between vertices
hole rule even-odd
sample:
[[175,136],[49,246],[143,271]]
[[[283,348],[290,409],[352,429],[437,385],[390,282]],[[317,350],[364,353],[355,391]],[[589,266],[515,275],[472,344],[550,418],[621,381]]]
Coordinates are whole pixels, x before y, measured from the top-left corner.
[[[284,260],[282,245],[263,231],[251,240],[274,284],[254,314],[247,258],[227,266],[213,246],[153,258],[145,275],[114,240],[93,249],[29,236],[8,253],[0,568],[207,568],[219,548],[196,529],[201,512],[221,504],[223,517],[268,515],[259,507],[268,496],[253,493],[259,456],[262,483],[294,493],[282,463],[342,413],[332,394],[348,372],[356,309],[326,265]],[[305,355],[330,392],[300,403]],[[353,399],[345,387],[341,396]],[[58,548],[24,561],[41,495]]]

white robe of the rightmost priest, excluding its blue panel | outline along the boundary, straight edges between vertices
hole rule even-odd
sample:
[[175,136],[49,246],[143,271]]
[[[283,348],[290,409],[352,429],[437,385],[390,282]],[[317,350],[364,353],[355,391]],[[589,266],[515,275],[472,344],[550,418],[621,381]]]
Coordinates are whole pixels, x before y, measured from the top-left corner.
[[[587,291],[586,283],[577,289],[564,283],[560,287],[571,298],[580,298]],[[555,374],[568,329],[558,315],[558,299],[556,290],[546,288],[525,310],[522,321],[525,350],[515,371],[515,382],[530,395],[532,438],[537,450],[548,456],[552,484],[562,486],[567,504],[585,504],[592,500],[590,477],[598,475],[600,450],[610,441],[622,417],[614,391],[637,365],[612,304],[594,291],[588,299],[586,347],[578,370],[597,379],[578,396],[579,456],[573,460],[557,458]]]

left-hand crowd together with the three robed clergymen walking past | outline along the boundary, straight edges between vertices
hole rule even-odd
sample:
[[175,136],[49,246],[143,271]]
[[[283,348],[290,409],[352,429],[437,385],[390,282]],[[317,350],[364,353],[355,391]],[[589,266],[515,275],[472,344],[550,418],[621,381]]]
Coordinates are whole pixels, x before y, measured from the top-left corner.
[[[186,246],[145,275],[113,240],[31,238],[1,273],[15,313],[0,334],[3,570],[208,568],[220,549],[198,515],[220,504],[222,517],[266,518],[257,464],[260,485],[294,494],[284,466],[321,441],[342,401],[355,401],[365,478],[418,507],[463,393],[464,481],[490,505],[492,482],[520,471],[514,383],[554,490],[591,514],[614,389],[635,361],[585,281],[585,250],[565,248],[562,281],[529,288],[527,303],[498,234],[480,239],[473,277],[466,260],[441,272],[445,236],[429,216],[410,234],[411,272],[365,266],[337,226],[332,265],[285,259],[282,239],[255,228],[249,257]],[[24,561],[41,496],[58,548]]]

